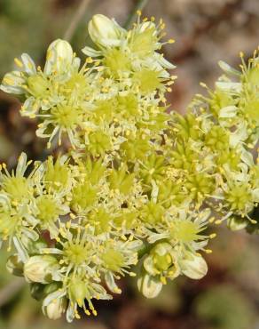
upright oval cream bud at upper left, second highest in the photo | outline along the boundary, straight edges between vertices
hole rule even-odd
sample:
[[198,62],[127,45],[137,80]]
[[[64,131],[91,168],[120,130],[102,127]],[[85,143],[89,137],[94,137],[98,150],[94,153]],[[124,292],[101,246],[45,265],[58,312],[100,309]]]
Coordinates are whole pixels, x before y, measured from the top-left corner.
[[70,68],[74,59],[73,49],[65,40],[55,40],[50,44],[47,51],[47,60],[44,68],[44,73],[65,73]]

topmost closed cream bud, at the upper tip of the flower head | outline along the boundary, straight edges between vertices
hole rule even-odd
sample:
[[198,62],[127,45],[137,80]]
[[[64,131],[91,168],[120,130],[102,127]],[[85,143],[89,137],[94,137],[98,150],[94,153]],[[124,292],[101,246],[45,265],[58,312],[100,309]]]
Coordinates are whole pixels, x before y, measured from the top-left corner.
[[120,35],[123,29],[114,21],[106,16],[94,15],[88,25],[90,38],[95,44],[102,46],[120,44]]

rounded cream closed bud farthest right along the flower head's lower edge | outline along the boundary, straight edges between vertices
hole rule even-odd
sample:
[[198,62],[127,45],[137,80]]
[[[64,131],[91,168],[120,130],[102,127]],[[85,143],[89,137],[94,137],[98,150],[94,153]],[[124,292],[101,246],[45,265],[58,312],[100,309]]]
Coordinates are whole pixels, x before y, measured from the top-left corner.
[[192,279],[200,279],[208,272],[206,261],[200,255],[191,252],[184,254],[184,259],[179,261],[179,265],[184,276]]

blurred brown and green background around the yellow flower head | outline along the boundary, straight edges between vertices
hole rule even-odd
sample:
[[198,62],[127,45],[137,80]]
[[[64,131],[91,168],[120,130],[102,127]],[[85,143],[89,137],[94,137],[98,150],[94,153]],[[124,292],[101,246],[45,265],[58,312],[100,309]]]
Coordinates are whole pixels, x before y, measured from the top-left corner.
[[[134,0],[0,0],[0,78],[13,68],[13,58],[28,52],[43,64],[52,40],[66,36],[75,50],[90,43],[87,21],[94,13],[114,17],[122,25],[134,12]],[[239,52],[250,56],[259,41],[258,0],[149,0],[144,16],[162,18],[169,38],[165,48],[177,65],[178,76],[168,95],[172,108],[184,109],[199,82],[213,88],[220,75],[218,60],[239,65]],[[20,103],[0,92],[0,161],[10,166],[21,151],[41,158],[43,140],[35,139],[35,123],[20,117]],[[179,278],[164,288],[159,298],[145,300],[136,282],[122,281],[122,296],[99,301],[97,318],[73,325],[52,322],[41,314],[27,286],[5,270],[7,254],[0,253],[0,329],[258,329],[258,237],[220,228],[211,245],[208,276],[200,281]]]

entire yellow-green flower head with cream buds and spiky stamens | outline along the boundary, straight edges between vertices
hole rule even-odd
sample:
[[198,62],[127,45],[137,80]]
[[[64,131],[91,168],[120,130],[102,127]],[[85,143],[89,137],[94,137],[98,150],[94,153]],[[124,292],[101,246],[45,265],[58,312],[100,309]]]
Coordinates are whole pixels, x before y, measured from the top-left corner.
[[212,213],[235,229],[256,226],[256,53],[241,73],[222,63],[239,81],[224,76],[180,116],[165,99],[176,76],[161,54],[173,43],[161,42],[164,28],[140,13],[130,30],[95,15],[83,64],[56,40],[43,69],[24,53],[4,76],[20,114],[38,120],[36,135],[64,153],[33,164],[22,153],[15,171],[2,164],[0,173],[7,269],[52,319],[71,322],[79,309],[96,316],[93,300],[122,293],[125,275],[147,298],[167,280],[204,277]]

